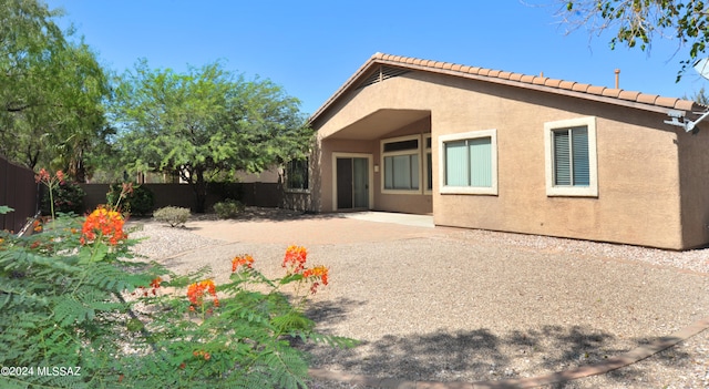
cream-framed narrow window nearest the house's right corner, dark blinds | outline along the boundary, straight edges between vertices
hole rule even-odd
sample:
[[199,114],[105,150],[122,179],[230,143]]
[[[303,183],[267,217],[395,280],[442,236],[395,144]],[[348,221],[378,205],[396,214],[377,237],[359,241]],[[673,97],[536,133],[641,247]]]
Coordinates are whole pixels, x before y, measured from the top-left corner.
[[545,123],[544,145],[547,195],[598,196],[595,117]]

